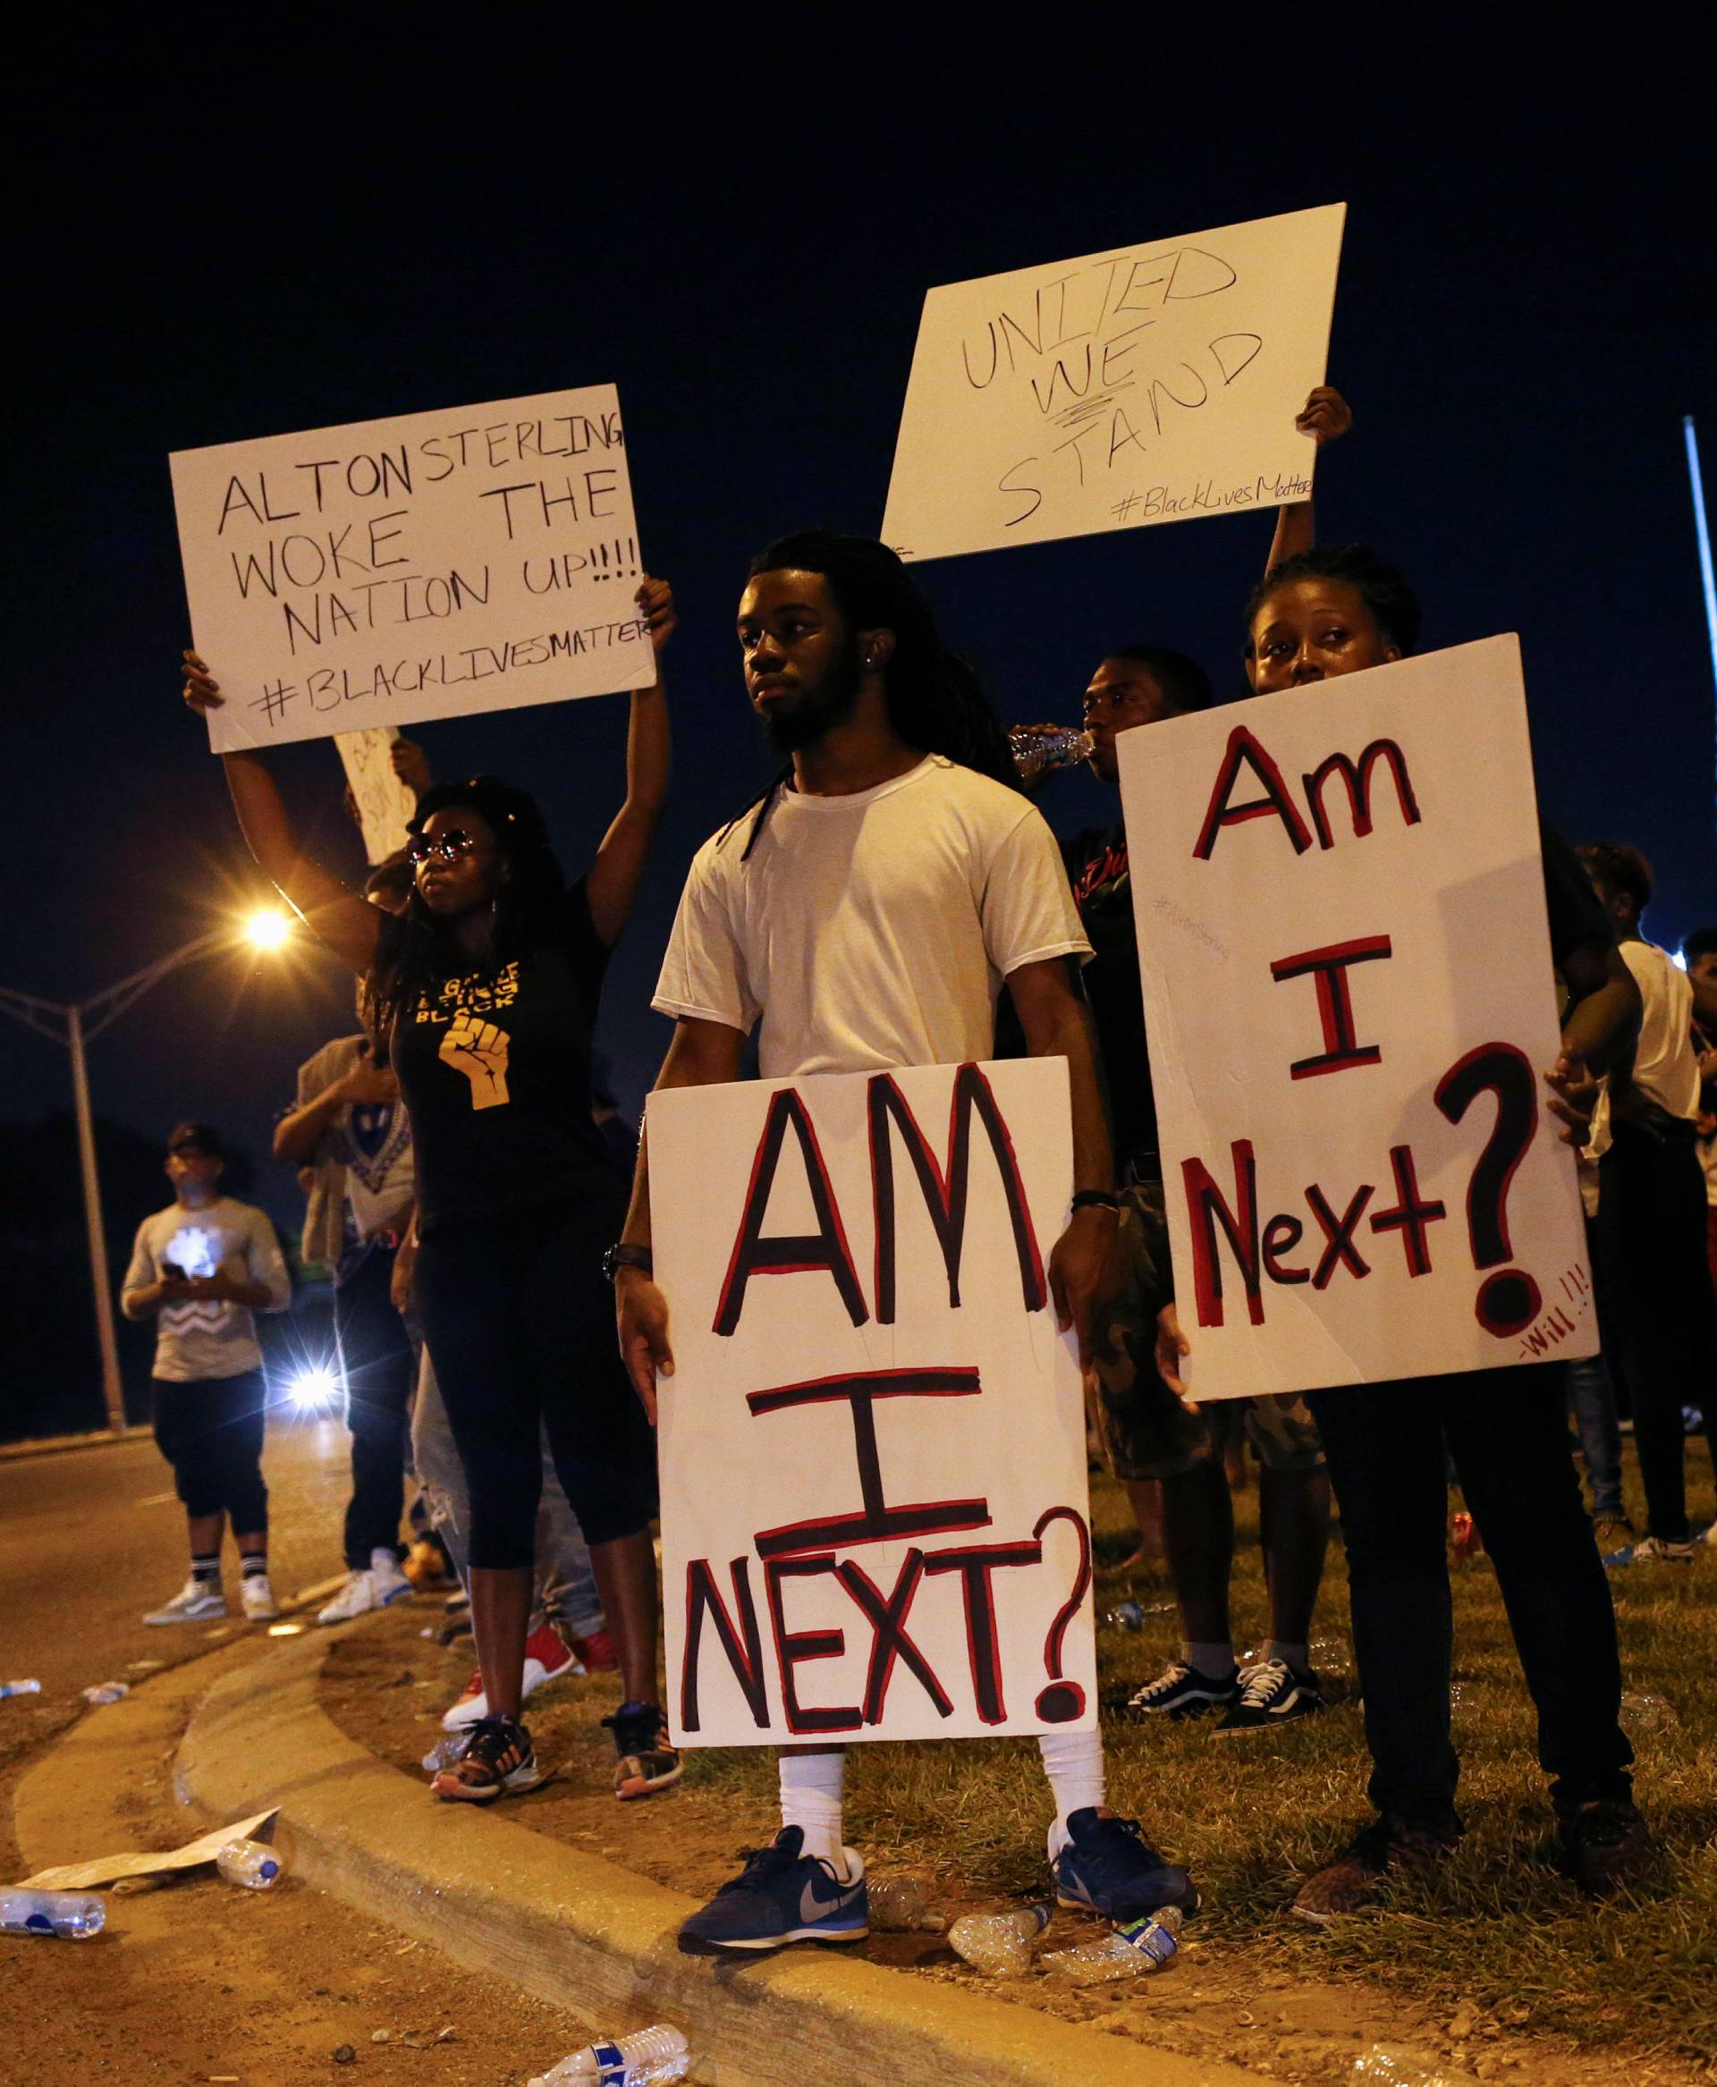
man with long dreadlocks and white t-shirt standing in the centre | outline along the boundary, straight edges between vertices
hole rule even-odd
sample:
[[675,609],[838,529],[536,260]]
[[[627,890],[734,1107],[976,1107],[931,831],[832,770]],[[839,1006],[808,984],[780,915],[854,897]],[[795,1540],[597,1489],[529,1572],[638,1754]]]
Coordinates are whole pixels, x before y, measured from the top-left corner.
[[[901,561],[816,530],[753,559],[739,603],[751,707],[791,766],[697,854],[655,1006],[676,1021],[657,1085],[953,1064],[993,1050],[1006,979],[1031,1056],[1068,1060],[1074,1208],[1049,1261],[1062,1327],[1087,1338],[1118,1200],[1091,1021],[1089,956],[1060,851],[1008,783],[1006,741],[943,649]],[[985,772],[987,770],[987,772]],[[620,1344],[645,1407],[672,1373],[672,1300],[651,1279],[649,1158],[611,1258]],[[1097,1732],[1041,1741],[1062,1903],[1122,1920],[1198,1895],[1104,1807]],[[688,1951],[855,1941],[864,1862],[843,1845],[843,1749],[780,1751],[782,1830],[680,1930]]]

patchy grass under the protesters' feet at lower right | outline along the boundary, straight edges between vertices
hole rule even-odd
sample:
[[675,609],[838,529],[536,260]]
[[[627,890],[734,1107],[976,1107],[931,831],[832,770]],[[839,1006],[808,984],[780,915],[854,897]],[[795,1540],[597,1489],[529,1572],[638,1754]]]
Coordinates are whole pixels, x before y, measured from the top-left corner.
[[[1688,1448],[1692,1509],[1711,1517],[1702,1444]],[[1256,1490],[1237,1498],[1235,1642],[1266,1634],[1256,1544]],[[1629,1505],[1640,1519],[1640,1501]],[[1129,1542],[1118,1488],[1093,1482],[1099,1557]],[[1640,1526],[1644,1521],[1640,1519]],[[1496,1576],[1479,1559],[1452,1567],[1456,1745],[1467,1839],[1433,1878],[1396,1887],[1387,1918],[1310,1928],[1283,1918],[1300,1878],[1369,1818],[1360,1713],[1325,1718],[1250,1743],[1212,1745],[1206,1726],[1106,1726],[1110,1799],[1189,1862],[1204,1891],[1200,1935],[1266,1953],[1306,1978],[1362,1976],[1421,2004],[1456,1997],[1498,2022],[1531,2022],[1592,2052],[1717,2060],[1717,1553],[1694,1567],[1615,1576],[1625,1722],[1638,1797],[1669,1851],[1665,1891],[1590,1905],[1554,1864],[1554,1832],[1535,1759],[1535,1726]],[[1097,1613],[1127,1592],[1145,1630],[1099,1630],[1106,1697],[1172,1655],[1177,1624],[1160,1576],[1129,1588],[1110,1569]],[[1316,1659],[1352,1676],[1346,1572],[1331,1544]],[[728,1791],[768,1814],[768,1753],[688,1755],[686,1782]],[[1045,1789],[1037,1749],[1020,1741],[958,1747],[855,1747],[847,1766],[847,1834],[878,1860],[958,1874],[970,1889],[1031,1897],[1043,1880]],[[1262,1962],[1262,1958],[1260,1958]]]

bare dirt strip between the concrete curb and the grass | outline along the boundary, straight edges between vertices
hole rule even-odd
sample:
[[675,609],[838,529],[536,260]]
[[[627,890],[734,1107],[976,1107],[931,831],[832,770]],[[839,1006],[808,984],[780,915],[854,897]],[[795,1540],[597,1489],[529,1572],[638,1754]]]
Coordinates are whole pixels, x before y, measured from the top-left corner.
[[[357,1741],[394,1768],[426,1780],[421,1755],[440,1736],[440,1711],[471,1665],[469,1640],[442,1651],[424,1636],[424,1609],[396,1609],[373,1628],[334,1647],[323,1676],[323,1707]],[[774,1832],[772,1766],[755,1757],[741,1789],[732,1757],[705,1778],[711,1755],[693,1755],[674,1793],[620,1807],[609,1778],[613,1747],[601,1718],[615,1707],[607,1678],[580,1678],[540,1690],[530,1705],[538,1757],[551,1780],[511,1801],[507,1816],[536,1832],[572,1841],[693,1897],[707,1897],[734,1874],[739,1851]],[[880,1753],[889,1749],[860,1749]],[[426,1795],[426,1801],[428,1795]],[[933,1905],[953,1920],[966,1912],[997,1912],[1010,1903],[997,1891],[972,1891],[953,1874],[897,1857],[868,1843],[872,1874],[912,1870],[930,1882]],[[1014,1893],[1014,1903],[1029,1893]],[[1095,1920],[1058,1912],[1045,1947],[1068,1949],[1104,1933]],[[882,1935],[864,1945],[872,1962],[920,1978],[985,1985],[995,1997],[1041,2008],[1064,2020],[1089,2022],[1110,2035],[1158,2049],[1220,2058],[1264,2079],[1335,2083],[1387,2079],[1396,2087],[1462,2087],[1469,2081],[1510,2081],[1519,2087],[1611,2087],[1619,2072],[1629,2087],[1684,2087],[1711,2079],[1673,2058],[1581,2056],[1569,2037],[1542,2035],[1531,2008],[1515,2004],[1477,2010],[1458,1987],[1425,2004],[1360,1978],[1308,1978],[1304,1966],[1268,1941],[1200,1941],[1198,1922],[1168,1972],[1122,1985],[1079,1987],[1066,1974],[1035,1968],[1024,1978],[987,1981],[966,1966],[937,1933]],[[1394,2070],[1360,2070],[1387,2054]],[[805,2087],[816,2087],[807,2081]]]

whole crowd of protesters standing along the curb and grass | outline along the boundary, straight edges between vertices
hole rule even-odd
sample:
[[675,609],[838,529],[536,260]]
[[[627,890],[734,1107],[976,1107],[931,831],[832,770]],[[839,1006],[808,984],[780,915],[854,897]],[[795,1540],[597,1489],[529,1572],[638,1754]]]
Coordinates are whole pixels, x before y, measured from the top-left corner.
[[[1314,392],[1298,426],[1346,432]],[[659,659],[666,582],[638,616],[657,678],[634,691],[626,793],[584,868],[561,872],[530,795],[492,776],[417,795],[411,841],[353,891],[307,854],[265,755],[227,753],[263,872],[357,977],[357,1027],[298,1075],[275,1152],[307,1188],[307,1254],[336,1271],[353,1490],[340,1622],[401,1599],[407,1473],[469,1594],[478,1670],[446,1722],[442,1801],[488,1803],[542,1780],[522,1720],[532,1688],[578,1661],[618,1670],[615,1795],[680,1778],[657,1693],[657,1380],[672,1377],[672,1296],[651,1256],[649,1135],[636,1165],[593,1092],[603,973],[626,929],[668,793]],[[1281,509],[1243,607],[1252,693],[1387,666],[1419,643],[1402,572],[1356,545],[1319,547],[1310,503]],[[1308,1920],[1375,1903],[1389,1874],[1460,1839],[1450,1741],[1454,1471],[1494,1559],[1538,1711],[1561,1845],[1590,1893],[1659,1857],[1634,1805],[1619,1722],[1613,1572],[1694,1569],[1688,1417],[1717,1446],[1717,929],[1686,970],[1642,935],[1644,856],[1575,851],[1542,829],[1563,1050],[1546,1108],[1579,1152],[1604,1352],[1200,1407],[1175,1309],[1164,1167],[1139,985],[1129,839],[1114,822],[1058,845],[972,672],[878,543],[807,530],[751,559],[736,634],[745,697],[780,758],[768,789],[697,851],[653,1006],[674,1033],[657,1087],[1064,1058],[1074,1194],[1049,1258],[1087,1371],[1093,1434],[1139,1526],[1160,1540],[1181,1613],[1137,1720],[1212,1716],[1248,1738],[1325,1707],[1312,1665],[1331,1513],[1348,1559],[1375,1816],[1310,1874]],[[221,703],[186,653],[184,695]],[[1116,783],[1116,739],[1212,703],[1181,651],[1102,651],[1085,691],[1089,768]],[[1014,735],[1029,747],[1033,730]],[[1033,764],[1024,764],[1031,772]],[[1546,987],[1552,981],[1546,979]],[[221,1140],[169,1137],[175,1202],[146,1221],[123,1309],[154,1317],[156,1438],[186,1505],[190,1580],[150,1615],[225,1611],[229,1521],[250,1617],[275,1613],[261,1480],[252,1313],[288,1302],[267,1219],[219,1194]],[[618,1325],[618,1342],[615,1342]],[[1631,1415],[1648,1526],[1621,1494]],[[1571,1428],[1592,1503],[1581,1501]],[[1239,1663],[1229,1624],[1231,1465],[1258,1461],[1271,1638]],[[1193,1910],[1187,1870],[1106,1803],[1099,1730],[1039,1741],[1047,1862],[1060,1903],[1124,1920]],[[784,1747],[780,1832],[682,1930],[691,1951],[755,1951],[868,1930],[864,1857],[843,1834],[839,1747]]]

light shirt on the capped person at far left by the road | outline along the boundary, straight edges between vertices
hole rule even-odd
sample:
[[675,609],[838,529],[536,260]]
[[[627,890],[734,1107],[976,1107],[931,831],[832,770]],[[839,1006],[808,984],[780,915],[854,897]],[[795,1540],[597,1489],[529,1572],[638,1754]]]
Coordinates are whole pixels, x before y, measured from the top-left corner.
[[[138,1225],[131,1267],[119,1290],[119,1309],[127,1319],[144,1317],[134,1309],[134,1296],[161,1281],[169,1261],[182,1275],[229,1269],[244,1281],[267,1284],[263,1311],[286,1311],[292,1302],[292,1279],[273,1225],[255,1204],[234,1202],[232,1196],[217,1196],[202,1210],[173,1202]],[[261,1367],[263,1350],[248,1304],[198,1298],[163,1304],[154,1315],[154,1375],[167,1384],[238,1377]]]

